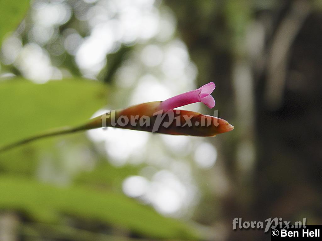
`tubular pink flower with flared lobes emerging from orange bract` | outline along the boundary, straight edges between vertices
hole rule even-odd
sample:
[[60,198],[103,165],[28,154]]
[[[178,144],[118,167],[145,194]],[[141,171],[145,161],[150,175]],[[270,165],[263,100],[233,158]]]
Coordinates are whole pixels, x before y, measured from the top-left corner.
[[210,82],[201,86],[199,89],[176,95],[162,101],[158,109],[163,109],[163,111],[166,112],[168,110],[196,102],[202,102],[209,108],[213,108],[215,106],[215,100],[210,94],[213,92],[215,87],[215,84]]

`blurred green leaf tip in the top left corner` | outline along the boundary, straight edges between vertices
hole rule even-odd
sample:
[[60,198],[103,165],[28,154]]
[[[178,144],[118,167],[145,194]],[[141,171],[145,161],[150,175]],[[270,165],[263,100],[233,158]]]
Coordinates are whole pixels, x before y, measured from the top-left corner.
[[18,27],[28,8],[28,0],[0,0],[0,46],[5,35]]

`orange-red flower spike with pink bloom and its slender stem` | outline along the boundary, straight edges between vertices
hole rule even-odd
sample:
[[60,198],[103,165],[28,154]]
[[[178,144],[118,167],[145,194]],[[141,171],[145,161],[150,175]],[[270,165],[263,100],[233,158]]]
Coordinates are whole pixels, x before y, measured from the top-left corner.
[[25,143],[51,136],[74,133],[82,130],[116,127],[169,135],[190,135],[209,137],[234,129],[227,121],[198,112],[177,110],[187,104],[202,102],[209,108],[215,106],[211,93],[215,84],[210,82],[199,89],[176,95],[165,101],[154,101],[115,110],[91,119],[78,127],[63,127],[41,135],[26,138],[5,147],[0,152]]

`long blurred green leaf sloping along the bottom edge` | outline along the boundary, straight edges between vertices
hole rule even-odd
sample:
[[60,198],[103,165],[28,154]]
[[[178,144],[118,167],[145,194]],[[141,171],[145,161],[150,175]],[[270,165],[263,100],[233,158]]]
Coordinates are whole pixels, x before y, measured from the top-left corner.
[[60,215],[97,220],[150,238],[196,240],[192,227],[162,217],[124,195],[86,187],[62,187],[0,176],[0,209],[20,210],[30,219],[57,223]]

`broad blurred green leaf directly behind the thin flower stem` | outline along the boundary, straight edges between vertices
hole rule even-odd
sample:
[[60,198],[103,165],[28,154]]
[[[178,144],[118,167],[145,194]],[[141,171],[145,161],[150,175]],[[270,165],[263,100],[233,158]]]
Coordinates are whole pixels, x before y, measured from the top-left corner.
[[[0,82],[0,146],[48,129],[86,122],[106,104],[107,90],[106,85],[84,79],[43,85],[18,78]],[[64,138],[43,139],[1,153],[0,171],[33,174],[37,150]]]

